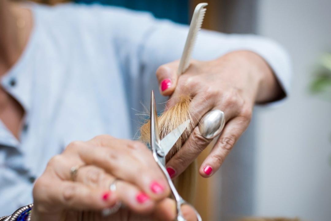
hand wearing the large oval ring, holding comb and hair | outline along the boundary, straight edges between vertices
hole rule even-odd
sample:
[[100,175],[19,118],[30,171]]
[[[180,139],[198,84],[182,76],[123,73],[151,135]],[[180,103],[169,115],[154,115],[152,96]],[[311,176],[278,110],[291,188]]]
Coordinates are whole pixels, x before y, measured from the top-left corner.
[[[250,51],[228,53],[212,61],[192,61],[187,71],[177,77],[179,61],[161,66],[157,70],[160,91],[171,95],[169,108],[177,103],[178,95],[190,95],[193,124],[212,109],[222,110],[226,125],[199,172],[209,177],[219,169],[238,138],[249,125],[255,103],[280,98],[283,94],[272,70],[257,54]],[[196,127],[189,139],[168,162],[172,177],[185,168],[212,141],[201,136]]]

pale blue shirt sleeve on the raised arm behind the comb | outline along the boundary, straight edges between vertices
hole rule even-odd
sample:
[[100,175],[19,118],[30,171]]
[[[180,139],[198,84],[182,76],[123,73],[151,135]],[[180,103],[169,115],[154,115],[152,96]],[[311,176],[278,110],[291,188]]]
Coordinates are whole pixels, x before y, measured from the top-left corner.
[[[167,21],[157,23],[157,28],[146,39],[142,57],[153,74],[158,66],[180,58],[188,33],[187,26]],[[270,39],[252,34],[224,34],[202,30],[198,34],[192,58],[211,60],[236,50],[249,50],[259,54],[272,68],[284,93],[288,95],[290,59],[286,51]]]

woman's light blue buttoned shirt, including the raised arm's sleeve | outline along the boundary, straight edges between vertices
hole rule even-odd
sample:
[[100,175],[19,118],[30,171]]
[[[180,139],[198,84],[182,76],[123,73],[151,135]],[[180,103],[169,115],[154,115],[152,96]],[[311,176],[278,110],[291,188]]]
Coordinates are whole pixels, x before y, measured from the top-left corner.
[[[0,122],[0,216],[33,201],[34,178],[71,141],[100,134],[132,139],[140,102],[148,104],[151,89],[158,102],[166,99],[155,72],[180,58],[188,32],[149,13],[113,7],[28,7],[34,19],[28,45],[1,79],[26,115],[20,140]],[[268,39],[201,31],[193,58],[234,50],[258,53],[288,90],[288,57]]]

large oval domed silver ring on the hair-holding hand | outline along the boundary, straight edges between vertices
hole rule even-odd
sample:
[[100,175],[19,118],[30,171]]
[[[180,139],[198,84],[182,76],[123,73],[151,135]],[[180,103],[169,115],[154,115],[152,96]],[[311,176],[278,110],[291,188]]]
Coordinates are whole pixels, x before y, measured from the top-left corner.
[[201,118],[199,131],[204,138],[211,139],[222,132],[224,125],[224,112],[221,110],[211,110]]

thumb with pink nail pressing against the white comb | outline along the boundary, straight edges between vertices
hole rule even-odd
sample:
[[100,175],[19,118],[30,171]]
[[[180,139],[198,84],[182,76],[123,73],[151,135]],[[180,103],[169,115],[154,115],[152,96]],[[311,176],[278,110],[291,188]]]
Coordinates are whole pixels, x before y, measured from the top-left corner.
[[163,96],[170,96],[177,84],[177,69],[179,61],[161,65],[156,71],[160,92]]

